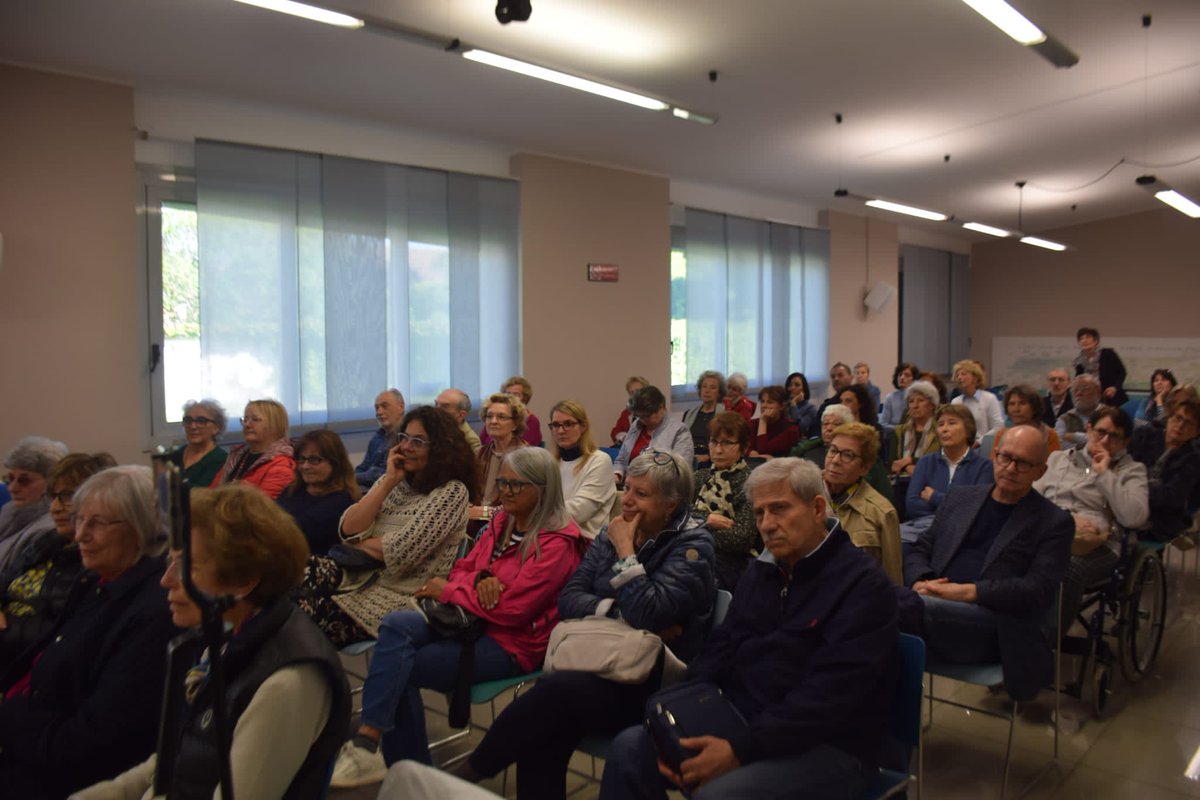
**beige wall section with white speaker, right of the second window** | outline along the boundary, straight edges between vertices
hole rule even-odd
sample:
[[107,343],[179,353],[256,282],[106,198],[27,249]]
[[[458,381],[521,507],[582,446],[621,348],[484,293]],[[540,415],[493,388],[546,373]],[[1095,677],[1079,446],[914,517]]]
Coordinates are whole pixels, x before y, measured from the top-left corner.
[[829,363],[868,362],[886,395],[899,349],[899,296],[881,312],[868,311],[863,297],[878,281],[899,285],[896,225],[840,211],[822,211],[821,224],[829,229]]

